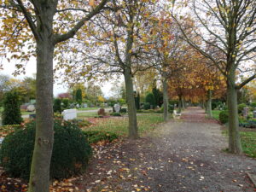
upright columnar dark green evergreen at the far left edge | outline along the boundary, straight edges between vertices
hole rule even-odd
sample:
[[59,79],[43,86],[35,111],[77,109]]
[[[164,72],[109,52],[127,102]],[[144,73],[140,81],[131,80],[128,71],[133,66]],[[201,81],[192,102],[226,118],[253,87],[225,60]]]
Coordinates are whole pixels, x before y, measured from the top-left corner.
[[22,122],[19,96],[16,91],[6,92],[3,99],[3,125],[19,125]]

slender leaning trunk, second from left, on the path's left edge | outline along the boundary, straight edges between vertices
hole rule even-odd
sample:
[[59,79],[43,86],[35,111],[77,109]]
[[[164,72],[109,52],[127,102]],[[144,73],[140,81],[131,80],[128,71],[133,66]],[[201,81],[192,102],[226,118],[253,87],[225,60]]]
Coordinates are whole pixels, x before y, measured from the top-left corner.
[[131,79],[131,70],[125,70],[125,88],[126,88],[126,98],[127,98],[127,106],[128,106],[128,116],[129,116],[129,138],[137,139],[138,136],[138,128],[137,128],[137,112],[136,105],[134,99],[134,91],[133,91],[133,83]]

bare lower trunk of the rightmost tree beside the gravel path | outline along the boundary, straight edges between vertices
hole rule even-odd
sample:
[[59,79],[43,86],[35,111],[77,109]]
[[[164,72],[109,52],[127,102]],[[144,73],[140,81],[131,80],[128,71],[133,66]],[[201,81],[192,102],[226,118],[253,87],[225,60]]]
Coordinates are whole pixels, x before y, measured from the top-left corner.
[[232,154],[241,154],[235,73],[228,78],[227,97],[229,109],[229,150]]

